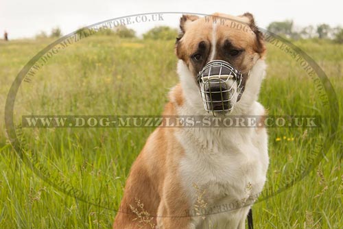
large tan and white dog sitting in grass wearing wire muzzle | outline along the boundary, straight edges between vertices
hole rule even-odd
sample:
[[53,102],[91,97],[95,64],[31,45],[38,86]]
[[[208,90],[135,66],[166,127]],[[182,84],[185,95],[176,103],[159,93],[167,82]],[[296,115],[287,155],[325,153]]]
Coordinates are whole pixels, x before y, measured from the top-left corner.
[[[254,115],[263,121],[266,111],[257,99],[265,77],[266,48],[252,14],[182,15],[175,52],[180,82],[169,92],[163,115]],[[211,113],[204,109],[199,73],[212,61],[238,69],[241,88],[237,82],[228,85],[235,84],[228,91],[229,104],[213,106]],[[160,126],[131,167],[113,228],[245,228],[250,207],[263,190],[268,164],[263,125]]]

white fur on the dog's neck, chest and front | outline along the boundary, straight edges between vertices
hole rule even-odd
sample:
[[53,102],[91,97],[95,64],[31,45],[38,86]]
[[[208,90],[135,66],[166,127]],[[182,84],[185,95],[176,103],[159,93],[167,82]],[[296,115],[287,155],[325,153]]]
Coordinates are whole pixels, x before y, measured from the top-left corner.
[[[178,62],[178,75],[185,102],[178,115],[207,115],[198,85],[186,64]],[[265,62],[257,60],[250,70],[241,100],[230,115],[264,115],[257,97],[265,75]],[[211,114],[210,114],[211,115]],[[205,191],[203,200],[211,206],[231,204],[258,195],[263,189],[268,169],[268,135],[256,128],[182,128],[176,138],[185,149],[179,164],[182,184],[194,209],[197,193]],[[252,185],[250,193],[246,191]],[[227,206],[227,205],[226,205]],[[245,228],[250,206],[222,213],[192,217],[189,228]]]

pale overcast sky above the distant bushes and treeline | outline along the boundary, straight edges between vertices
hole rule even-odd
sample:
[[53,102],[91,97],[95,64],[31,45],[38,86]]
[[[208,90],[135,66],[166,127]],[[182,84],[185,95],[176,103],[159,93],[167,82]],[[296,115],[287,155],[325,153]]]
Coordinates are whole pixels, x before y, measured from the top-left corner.
[[[239,15],[251,12],[259,27],[267,27],[272,21],[293,20],[298,26],[343,25],[343,1],[326,0],[224,0],[224,1],[72,1],[72,0],[0,0],[0,32],[6,30],[9,38],[32,37],[40,31],[49,33],[52,27],[60,27],[69,34],[85,25],[91,25],[119,16],[147,12],[197,12],[211,14],[224,12]],[[131,26],[139,34],[156,25],[178,26],[180,14],[165,14],[164,21],[139,23]]]

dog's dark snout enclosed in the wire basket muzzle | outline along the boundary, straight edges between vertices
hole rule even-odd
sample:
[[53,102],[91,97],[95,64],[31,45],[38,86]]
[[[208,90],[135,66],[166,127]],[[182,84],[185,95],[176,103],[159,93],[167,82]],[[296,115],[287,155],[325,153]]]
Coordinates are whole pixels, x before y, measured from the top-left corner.
[[241,73],[223,60],[213,60],[198,75],[198,84],[206,111],[230,112],[239,100]]

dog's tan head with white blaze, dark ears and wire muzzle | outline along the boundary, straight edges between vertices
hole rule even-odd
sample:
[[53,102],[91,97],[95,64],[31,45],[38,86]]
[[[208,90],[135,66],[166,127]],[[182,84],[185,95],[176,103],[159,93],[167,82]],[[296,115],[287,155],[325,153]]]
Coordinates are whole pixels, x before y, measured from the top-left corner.
[[[205,91],[203,99],[211,97],[212,107],[207,106],[209,110],[231,110],[246,88],[248,77],[253,77],[249,74],[250,71],[257,61],[265,56],[265,44],[263,34],[255,25],[254,17],[250,13],[241,16],[216,13],[202,18],[183,15],[180,19],[180,35],[176,40],[176,56],[182,62],[183,68],[187,68],[189,73],[187,77],[192,78],[192,80],[187,79],[188,84],[198,84],[198,88],[201,88],[199,73],[204,72],[206,64],[213,60],[228,63],[229,67],[239,72],[241,74],[239,79],[228,78],[221,84],[218,77],[217,83],[202,88]],[[213,74],[215,70],[213,68]],[[217,68],[217,71],[224,73],[222,67]],[[226,71],[228,71],[226,75],[231,74],[230,70],[226,69]],[[209,73],[207,76],[210,76]],[[211,80],[215,79],[211,77]],[[256,86],[259,88],[260,85]],[[228,88],[232,90],[229,91]],[[185,96],[187,97],[187,92]],[[222,103],[223,96],[227,98],[227,104]],[[221,101],[220,106],[215,105],[218,101]]]

